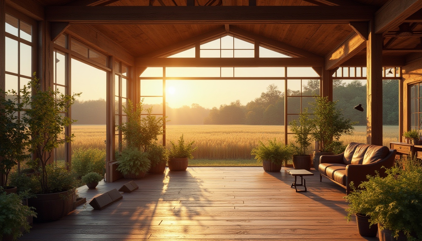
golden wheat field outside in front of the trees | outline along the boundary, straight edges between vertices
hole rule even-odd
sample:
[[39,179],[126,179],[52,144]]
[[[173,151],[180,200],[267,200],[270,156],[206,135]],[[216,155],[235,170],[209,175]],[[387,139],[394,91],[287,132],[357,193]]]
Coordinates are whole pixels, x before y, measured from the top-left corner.
[[[398,141],[398,126],[384,126],[384,146]],[[75,139],[73,148],[98,147],[105,149],[105,125],[73,125]],[[284,141],[284,126],[271,125],[167,125],[166,146],[170,141],[177,141],[184,134],[185,141],[195,141],[198,150],[193,153],[195,159],[189,165],[256,165],[251,157],[251,150],[259,141],[276,138]],[[352,135],[340,139],[344,143],[366,143],[366,127],[356,126]],[[159,141],[162,141],[160,138]],[[292,135],[288,142],[293,141]]]

